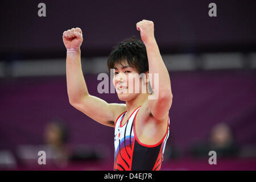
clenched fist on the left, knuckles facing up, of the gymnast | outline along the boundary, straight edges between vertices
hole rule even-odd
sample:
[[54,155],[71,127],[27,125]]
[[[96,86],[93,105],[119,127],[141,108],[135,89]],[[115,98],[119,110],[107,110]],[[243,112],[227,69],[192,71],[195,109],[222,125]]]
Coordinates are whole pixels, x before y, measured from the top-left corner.
[[72,28],[64,31],[63,42],[67,50],[76,51],[82,44],[82,30],[80,28]]

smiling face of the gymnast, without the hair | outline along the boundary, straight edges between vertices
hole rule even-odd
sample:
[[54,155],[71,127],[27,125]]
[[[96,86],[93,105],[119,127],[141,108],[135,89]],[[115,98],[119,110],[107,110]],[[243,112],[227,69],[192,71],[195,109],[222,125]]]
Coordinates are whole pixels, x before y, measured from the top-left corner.
[[128,65],[126,61],[115,65],[113,84],[121,101],[130,101],[139,94],[146,93],[144,88],[147,84],[142,81],[137,70]]

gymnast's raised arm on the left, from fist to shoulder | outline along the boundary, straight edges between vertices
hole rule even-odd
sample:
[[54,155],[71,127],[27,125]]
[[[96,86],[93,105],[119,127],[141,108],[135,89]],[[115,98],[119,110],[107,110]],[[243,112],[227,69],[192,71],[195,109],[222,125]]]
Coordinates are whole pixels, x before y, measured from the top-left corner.
[[72,28],[63,32],[63,42],[67,48],[66,70],[69,103],[95,121],[114,127],[116,115],[125,106],[108,104],[88,93],[81,67],[80,46],[82,41],[80,28]]

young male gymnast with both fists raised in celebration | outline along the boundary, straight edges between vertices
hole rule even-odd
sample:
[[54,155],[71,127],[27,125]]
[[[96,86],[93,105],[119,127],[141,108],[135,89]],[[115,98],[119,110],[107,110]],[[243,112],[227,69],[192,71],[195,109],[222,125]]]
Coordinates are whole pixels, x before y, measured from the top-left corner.
[[[135,38],[121,42],[108,60],[118,98],[126,104],[109,104],[88,93],[81,69],[82,31],[64,31],[68,97],[70,104],[88,117],[115,128],[114,170],[159,170],[169,135],[171,82],[155,40],[154,23],[142,20],[136,26],[143,42]],[[141,73],[145,75],[138,77]],[[154,93],[158,93],[153,99],[142,92],[143,86],[150,88],[150,74],[158,75],[151,82]],[[139,92],[135,92],[137,82],[141,85]]]

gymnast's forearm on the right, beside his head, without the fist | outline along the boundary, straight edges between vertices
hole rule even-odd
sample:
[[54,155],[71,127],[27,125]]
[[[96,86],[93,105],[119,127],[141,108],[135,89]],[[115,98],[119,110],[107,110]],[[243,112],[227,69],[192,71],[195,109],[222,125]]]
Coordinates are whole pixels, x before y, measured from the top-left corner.
[[159,95],[163,93],[171,93],[171,81],[166,65],[163,62],[162,56],[160,55],[160,51],[158,48],[158,44],[155,40],[148,42],[145,44],[147,49],[147,58],[148,58],[148,72],[152,74],[152,78],[154,78],[154,74],[159,74],[158,79],[158,88],[155,88],[155,81],[152,79],[152,88],[159,90]]

